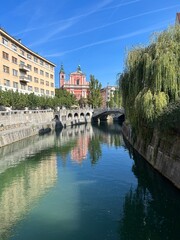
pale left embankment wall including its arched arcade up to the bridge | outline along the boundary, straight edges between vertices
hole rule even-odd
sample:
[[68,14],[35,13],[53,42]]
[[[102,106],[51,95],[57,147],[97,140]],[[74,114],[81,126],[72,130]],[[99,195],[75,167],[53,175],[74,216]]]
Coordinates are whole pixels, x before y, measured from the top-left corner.
[[92,109],[0,111],[0,147],[36,135],[40,130],[91,122],[92,114]]

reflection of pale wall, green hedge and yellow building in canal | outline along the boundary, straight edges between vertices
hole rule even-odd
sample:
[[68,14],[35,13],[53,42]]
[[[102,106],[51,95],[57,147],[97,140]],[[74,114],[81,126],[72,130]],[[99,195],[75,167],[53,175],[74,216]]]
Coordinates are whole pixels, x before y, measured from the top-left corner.
[[36,136],[0,149],[0,239],[54,186],[56,155],[43,153],[53,142]]

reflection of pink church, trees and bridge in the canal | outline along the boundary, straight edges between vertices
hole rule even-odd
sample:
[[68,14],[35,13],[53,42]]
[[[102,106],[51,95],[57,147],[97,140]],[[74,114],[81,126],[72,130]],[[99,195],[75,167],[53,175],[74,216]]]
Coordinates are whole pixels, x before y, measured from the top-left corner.
[[124,144],[121,126],[107,122],[66,128],[57,132],[56,137],[57,151],[64,162],[70,152],[73,161],[82,163],[89,152],[91,163],[95,164],[101,157],[101,144],[116,147]]

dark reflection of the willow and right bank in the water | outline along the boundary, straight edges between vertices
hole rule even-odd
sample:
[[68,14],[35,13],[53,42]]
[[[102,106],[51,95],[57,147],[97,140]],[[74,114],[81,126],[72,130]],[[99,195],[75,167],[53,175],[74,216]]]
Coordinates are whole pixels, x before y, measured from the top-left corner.
[[[125,196],[119,224],[121,240],[178,239],[180,233],[180,193],[129,148],[134,159],[136,189]],[[176,216],[176,218],[174,217]]]

